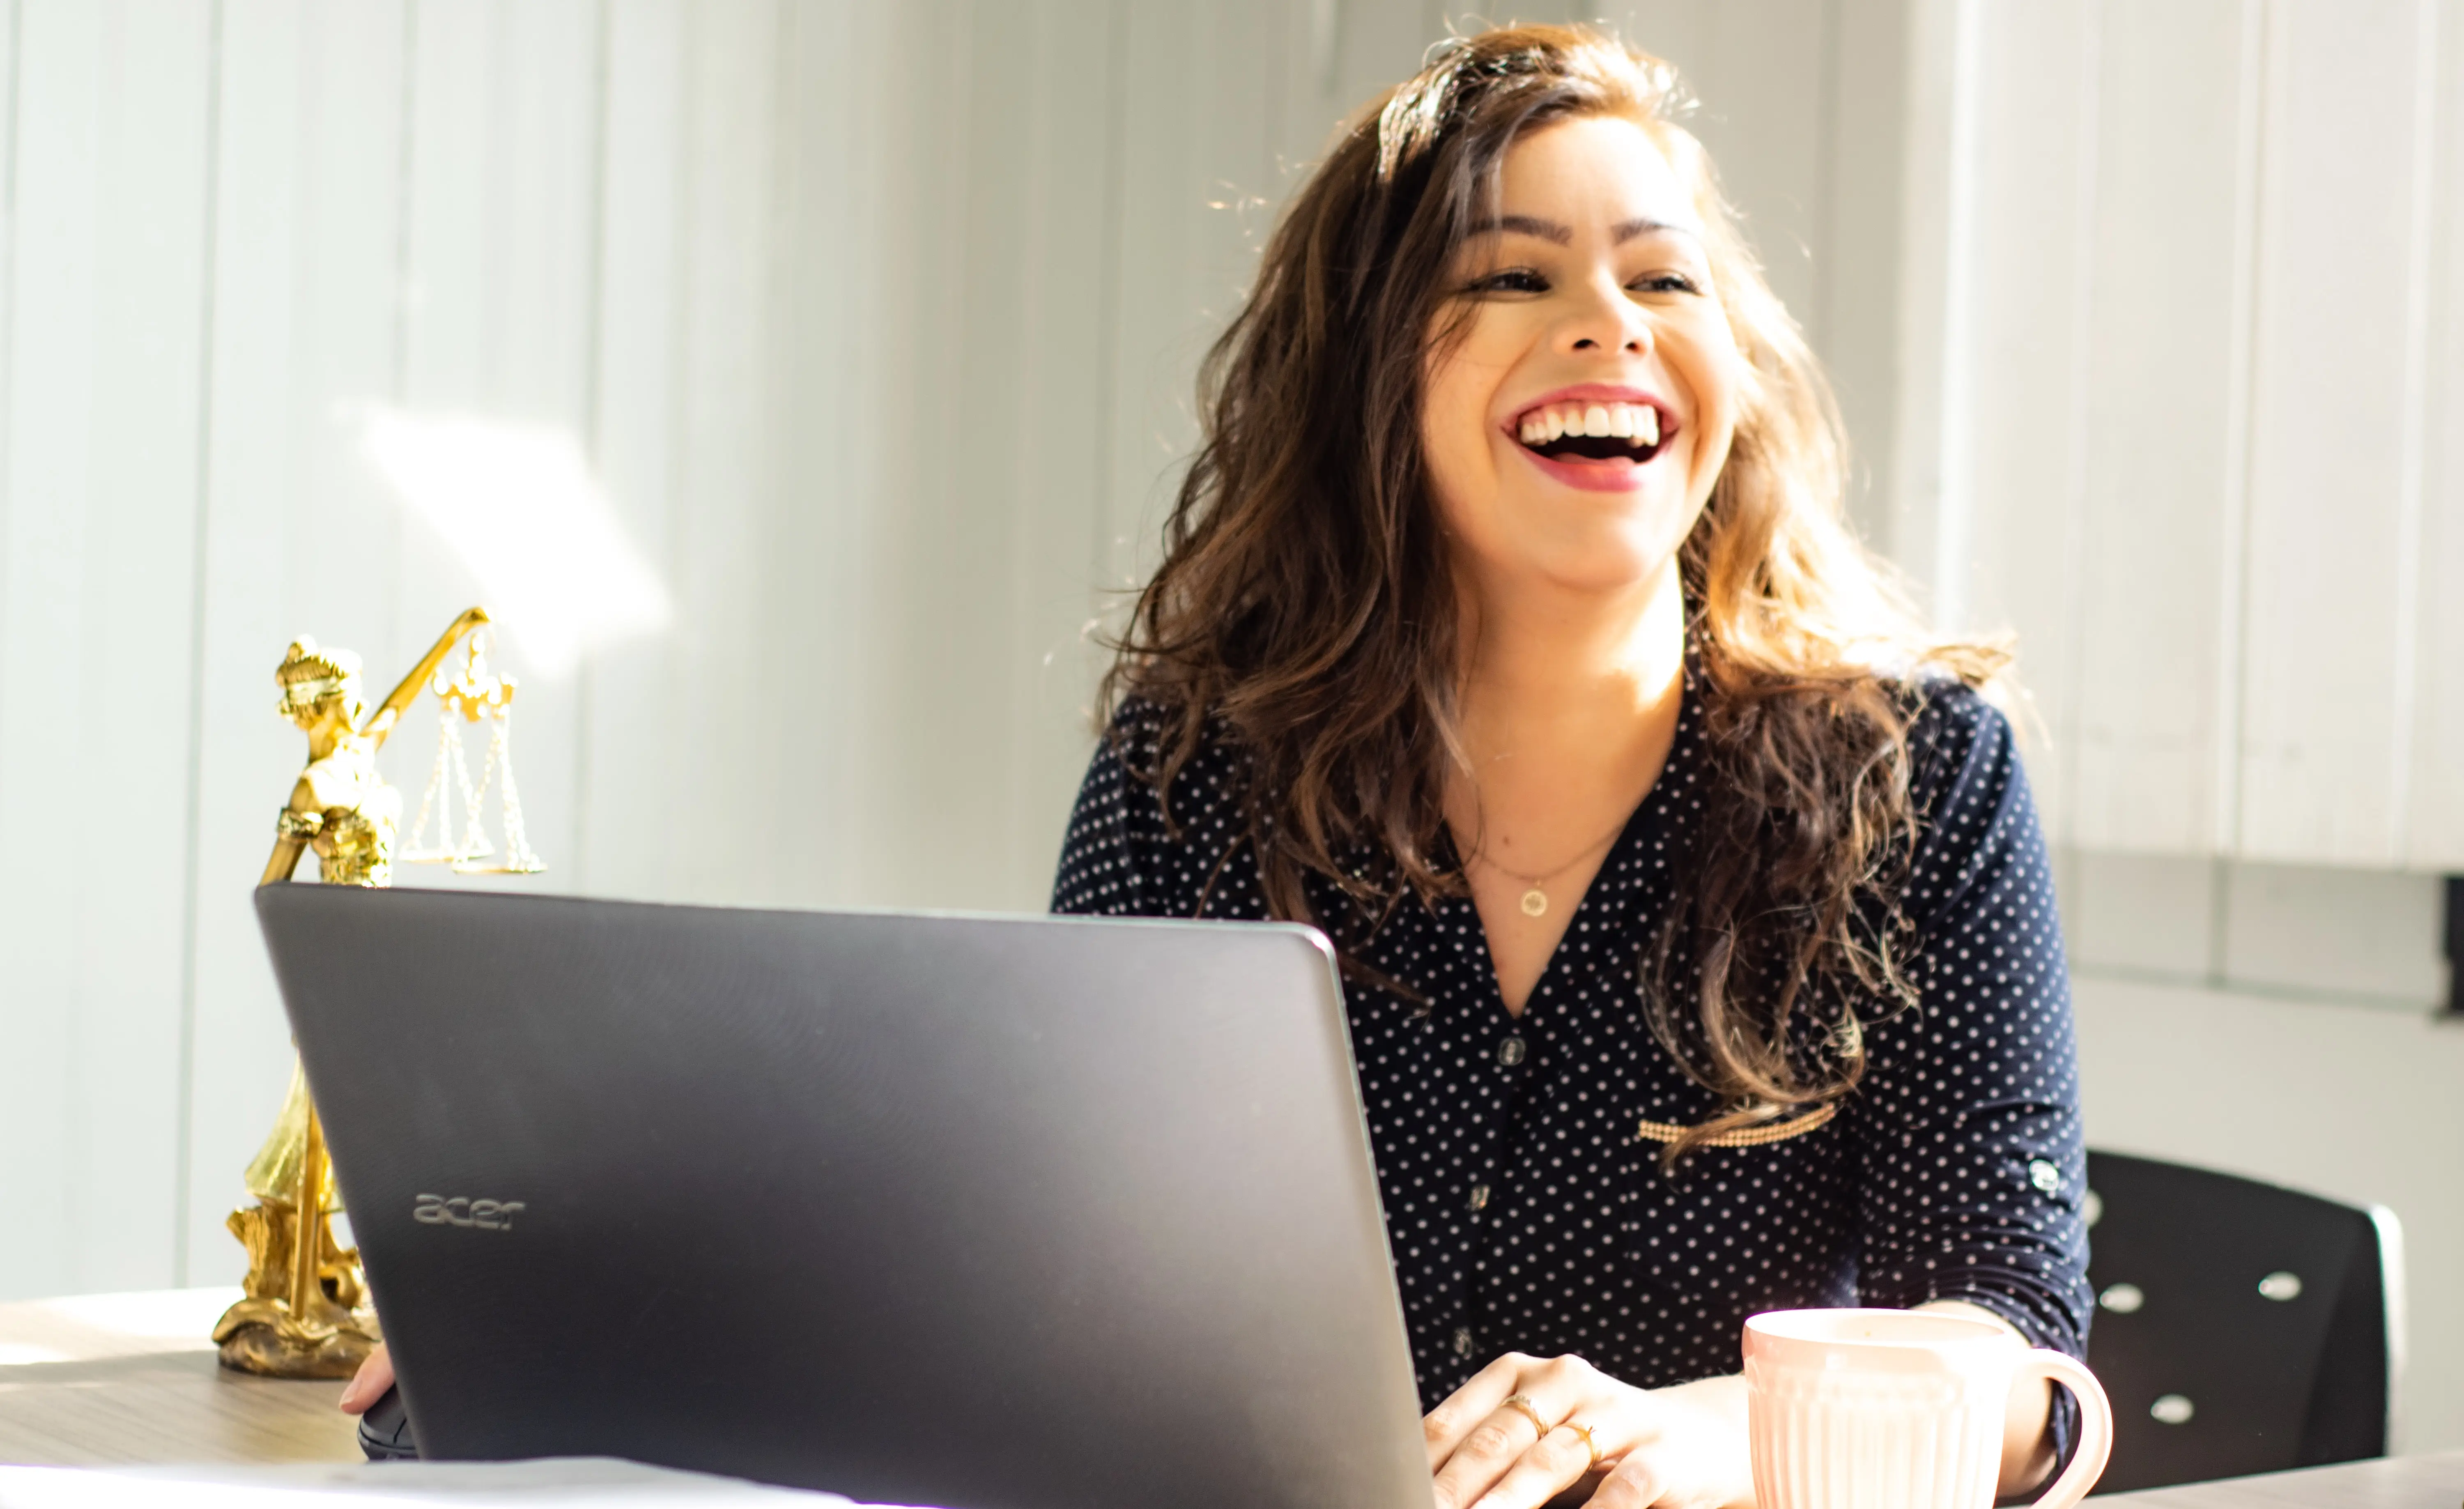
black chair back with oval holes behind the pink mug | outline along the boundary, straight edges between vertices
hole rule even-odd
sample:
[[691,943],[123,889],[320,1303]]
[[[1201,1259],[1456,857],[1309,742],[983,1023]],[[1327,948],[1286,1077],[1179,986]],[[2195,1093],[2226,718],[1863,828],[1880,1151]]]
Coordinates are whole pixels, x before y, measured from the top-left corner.
[[2097,1492],[2388,1452],[2402,1235],[2252,1179],[2087,1154],[2087,1366],[2114,1401]]

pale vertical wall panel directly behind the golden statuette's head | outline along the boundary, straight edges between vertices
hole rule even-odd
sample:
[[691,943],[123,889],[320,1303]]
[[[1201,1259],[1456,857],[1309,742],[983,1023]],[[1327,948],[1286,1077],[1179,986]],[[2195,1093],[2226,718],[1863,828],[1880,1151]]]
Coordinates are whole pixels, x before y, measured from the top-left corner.
[[306,762],[306,740],[274,710],[274,666],[308,631],[372,651],[372,678],[392,671],[399,513],[350,414],[394,392],[402,42],[397,0],[229,0],[224,12],[187,1282],[239,1282],[246,1267],[222,1218],[244,1203],[241,1169],[291,1073],[249,910]]

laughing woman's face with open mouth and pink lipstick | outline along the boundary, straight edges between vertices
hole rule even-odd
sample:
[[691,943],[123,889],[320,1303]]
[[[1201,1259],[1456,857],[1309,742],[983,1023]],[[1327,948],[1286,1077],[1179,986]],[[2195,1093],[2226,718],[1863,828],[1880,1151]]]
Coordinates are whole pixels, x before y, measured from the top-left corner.
[[1476,589],[1648,582],[1710,498],[1745,360],[1685,185],[1641,126],[1518,141],[1501,215],[1456,252],[1422,449]]

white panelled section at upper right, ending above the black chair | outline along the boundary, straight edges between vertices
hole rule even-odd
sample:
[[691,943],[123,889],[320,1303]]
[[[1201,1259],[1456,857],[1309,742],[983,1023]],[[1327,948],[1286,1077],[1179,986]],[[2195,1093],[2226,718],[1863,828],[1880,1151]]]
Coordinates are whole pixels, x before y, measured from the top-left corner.
[[1892,547],[2082,848],[2464,868],[2464,7],[1924,0]]

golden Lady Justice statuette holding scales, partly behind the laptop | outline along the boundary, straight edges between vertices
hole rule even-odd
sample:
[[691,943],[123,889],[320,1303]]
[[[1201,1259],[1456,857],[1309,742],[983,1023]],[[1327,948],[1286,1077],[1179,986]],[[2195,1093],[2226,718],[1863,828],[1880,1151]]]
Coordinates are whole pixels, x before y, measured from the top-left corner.
[[[259,885],[291,880],[301,856],[315,851],[325,885],[392,885],[394,861],[446,863],[471,873],[530,875],[545,870],[522,828],[522,796],[513,782],[513,678],[490,676],[485,609],[471,609],[429,646],[419,666],[384,703],[370,708],[360,656],[318,646],[306,634],[291,644],[274,678],[281,713],[308,735],[308,767],[274,824],[274,858]],[[461,656],[453,651],[461,648]],[[377,750],[426,685],[436,693],[436,767],[419,801],[407,843],[399,841],[402,794],[377,774]],[[488,725],[488,754],[471,779],[461,725]],[[451,782],[451,784],[448,784]],[[488,841],[483,804],[500,791],[503,853]],[[463,831],[453,836],[453,799]],[[429,816],[436,841],[426,843]],[[249,1164],[254,1206],[232,1211],[232,1235],[249,1250],[246,1297],[214,1322],[222,1366],[276,1378],[347,1378],[377,1346],[377,1312],[360,1272],[360,1250],[335,1240],[340,1196],[325,1132],[298,1063],[274,1134]],[[313,1213],[303,1221],[301,1213]]]

